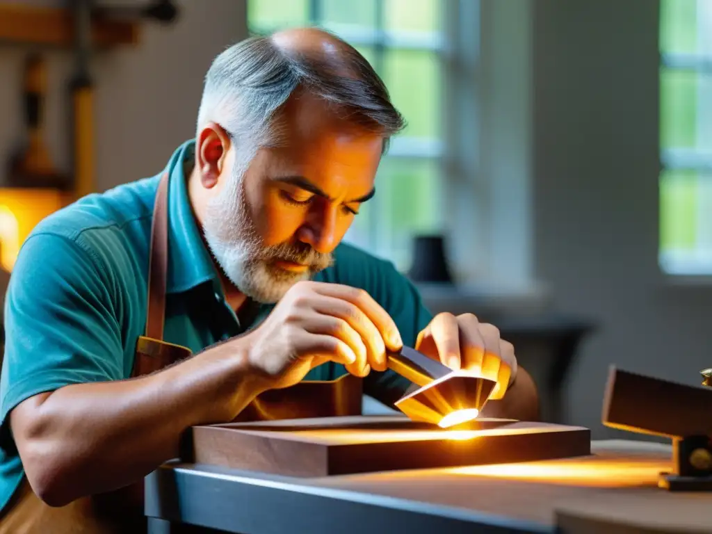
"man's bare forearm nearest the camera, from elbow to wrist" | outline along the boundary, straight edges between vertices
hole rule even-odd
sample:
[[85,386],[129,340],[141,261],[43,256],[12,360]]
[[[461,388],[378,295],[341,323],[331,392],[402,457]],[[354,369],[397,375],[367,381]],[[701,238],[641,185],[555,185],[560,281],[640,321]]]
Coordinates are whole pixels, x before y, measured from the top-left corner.
[[53,506],[140,481],[190,426],[234,419],[258,393],[231,342],[153,375],[73,384],[11,413],[33,489]]

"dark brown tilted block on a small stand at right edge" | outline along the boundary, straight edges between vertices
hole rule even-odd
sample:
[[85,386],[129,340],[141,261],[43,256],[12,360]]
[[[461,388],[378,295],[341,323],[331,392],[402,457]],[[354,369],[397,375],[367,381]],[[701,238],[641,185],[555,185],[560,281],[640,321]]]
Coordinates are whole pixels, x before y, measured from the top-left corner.
[[712,436],[712,389],[611,367],[602,421],[641,434]]

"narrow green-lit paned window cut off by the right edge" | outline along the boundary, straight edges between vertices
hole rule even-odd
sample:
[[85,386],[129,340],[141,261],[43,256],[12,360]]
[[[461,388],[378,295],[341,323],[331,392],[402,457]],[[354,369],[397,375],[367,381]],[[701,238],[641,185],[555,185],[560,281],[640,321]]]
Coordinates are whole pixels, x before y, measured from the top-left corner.
[[661,0],[662,270],[712,274],[712,2]]

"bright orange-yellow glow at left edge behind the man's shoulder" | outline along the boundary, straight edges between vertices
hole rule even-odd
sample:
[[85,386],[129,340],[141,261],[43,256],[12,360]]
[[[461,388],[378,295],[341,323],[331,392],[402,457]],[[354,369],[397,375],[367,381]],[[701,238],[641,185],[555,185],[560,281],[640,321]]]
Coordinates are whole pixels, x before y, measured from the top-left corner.
[[12,271],[17,253],[32,229],[66,203],[56,189],[0,187],[0,266]]

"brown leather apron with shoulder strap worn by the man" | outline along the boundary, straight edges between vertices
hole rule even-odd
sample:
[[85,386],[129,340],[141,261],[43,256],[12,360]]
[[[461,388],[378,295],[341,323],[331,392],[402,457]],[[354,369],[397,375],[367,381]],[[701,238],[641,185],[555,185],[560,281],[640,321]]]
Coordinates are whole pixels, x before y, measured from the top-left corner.
[[[132,377],[157,372],[190,357],[187,347],[163,340],[168,273],[169,174],[159,181],[151,224],[145,335],[138,337]],[[362,381],[344,375],[331,381],[304,381],[256,397],[235,421],[332,417],[361,413]],[[109,493],[46,505],[23,478],[0,517],[0,534],[144,533],[143,481]]]

